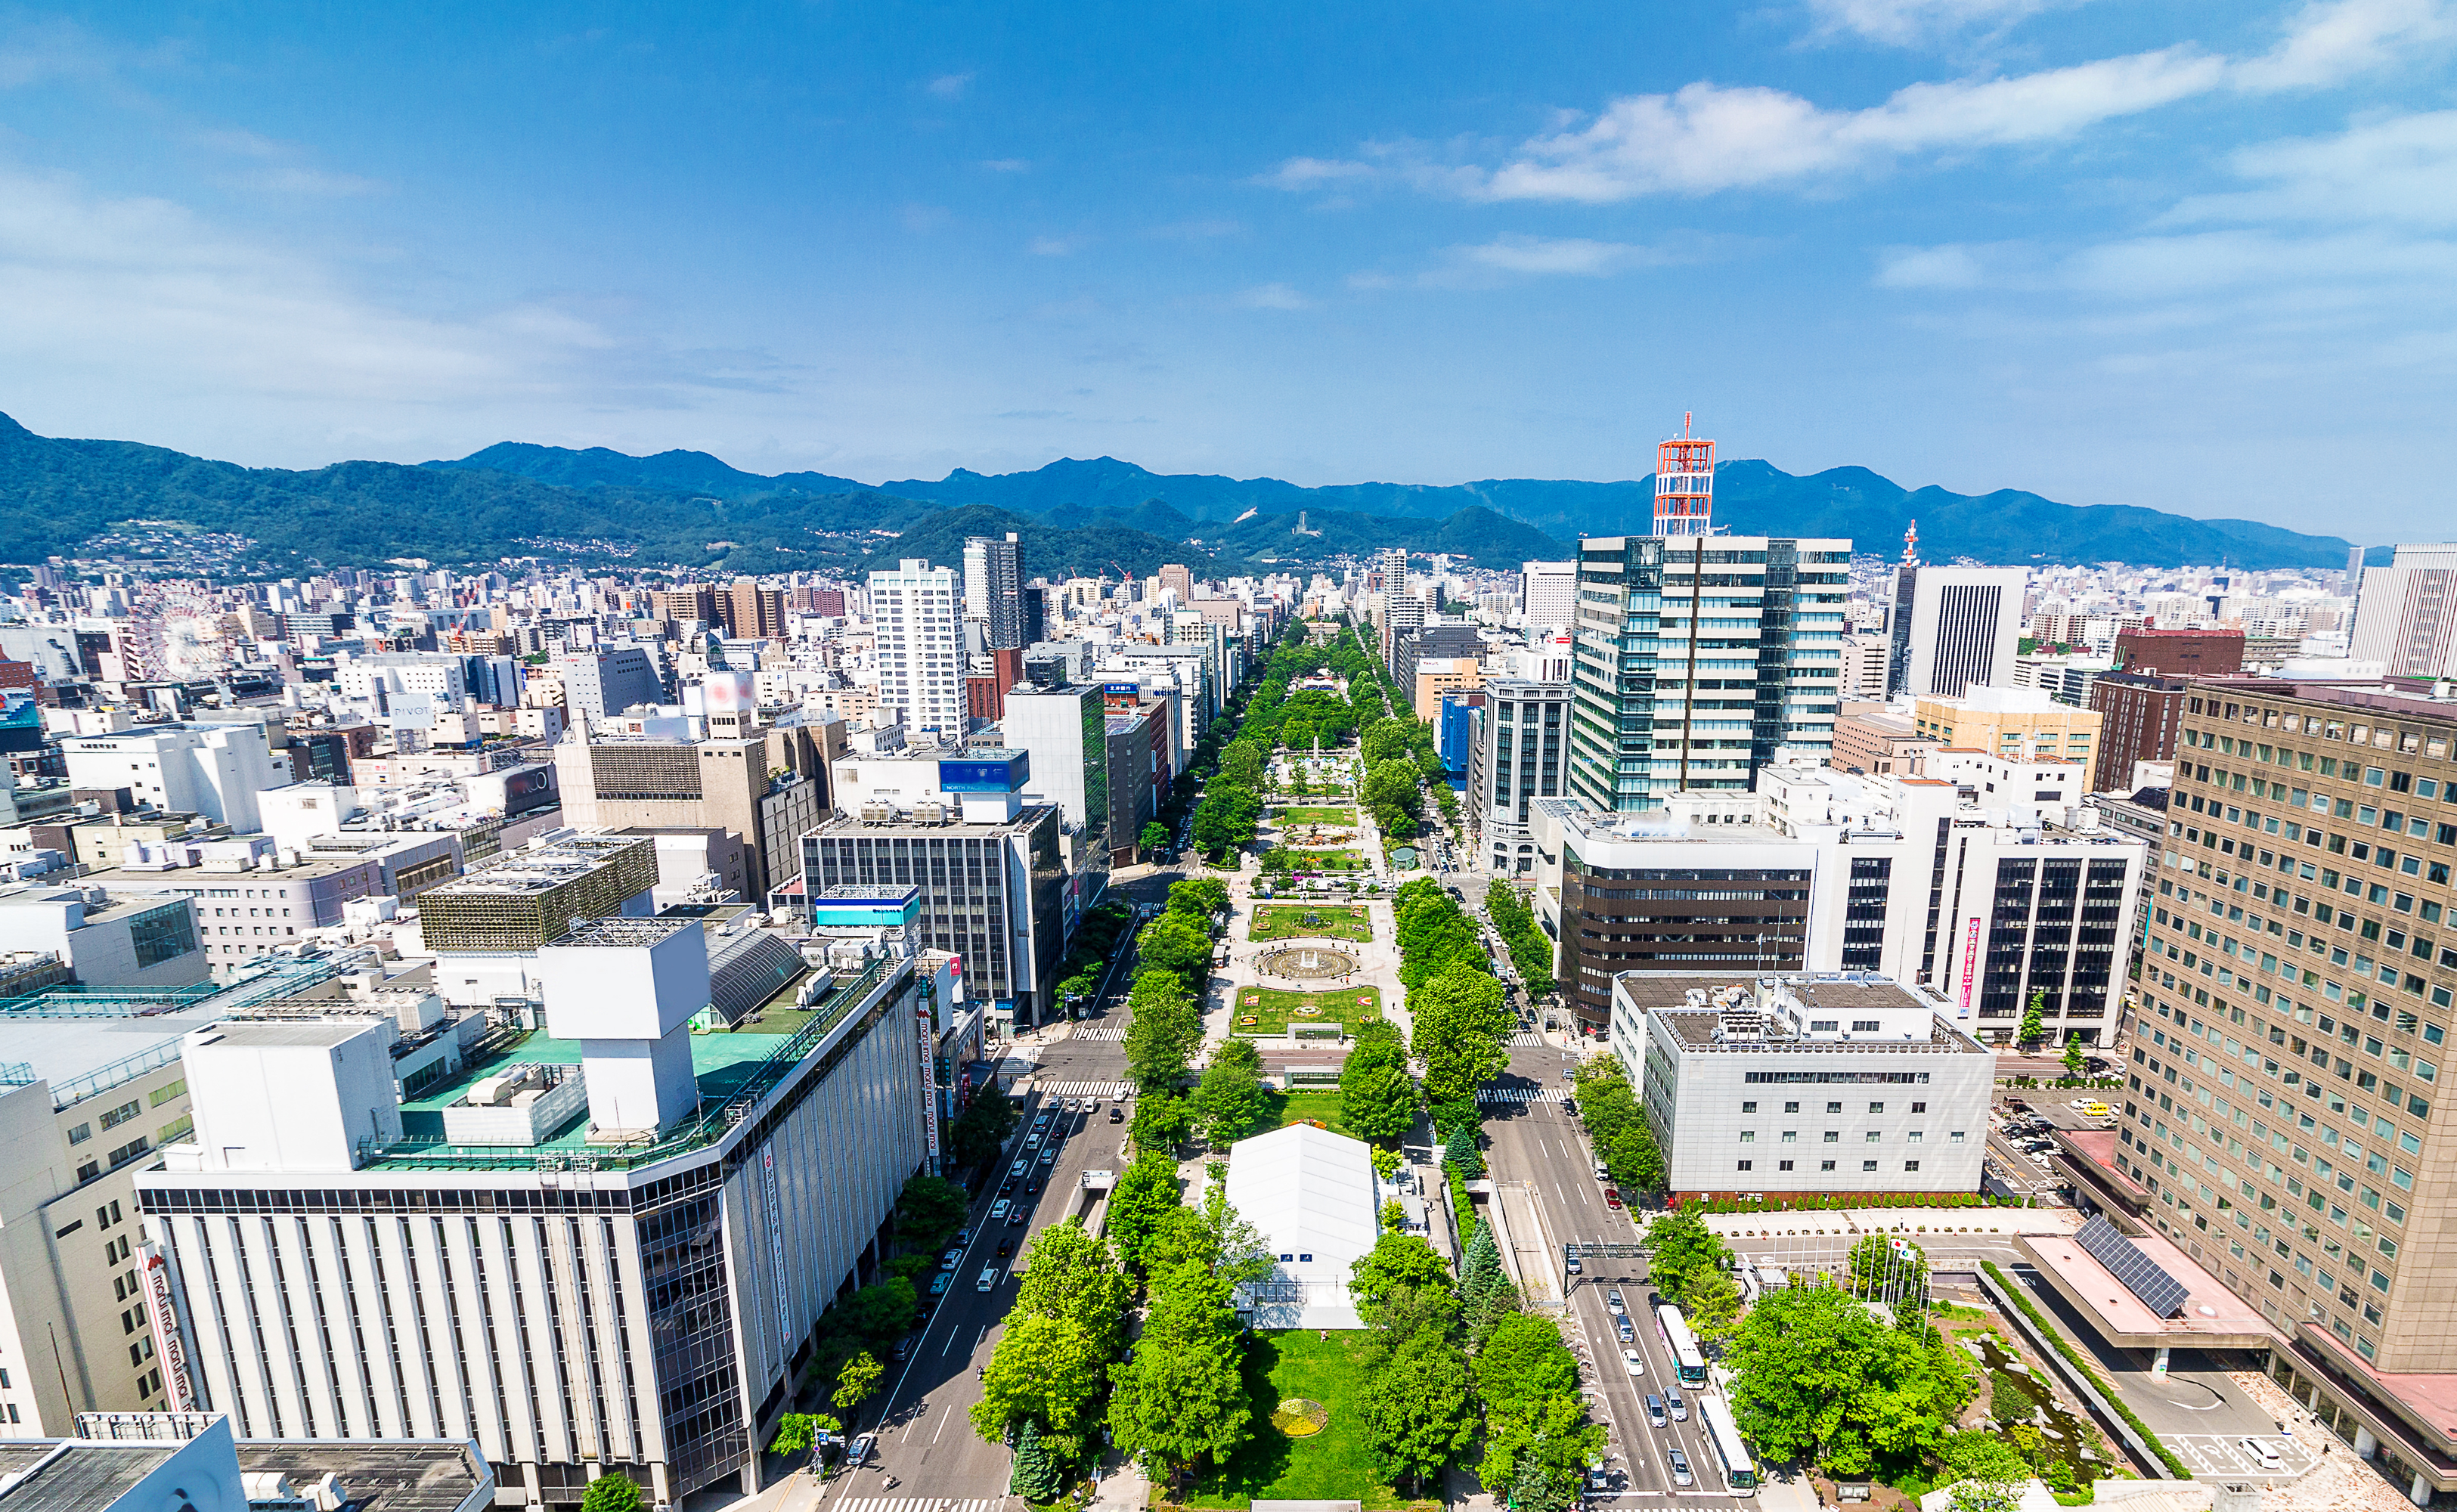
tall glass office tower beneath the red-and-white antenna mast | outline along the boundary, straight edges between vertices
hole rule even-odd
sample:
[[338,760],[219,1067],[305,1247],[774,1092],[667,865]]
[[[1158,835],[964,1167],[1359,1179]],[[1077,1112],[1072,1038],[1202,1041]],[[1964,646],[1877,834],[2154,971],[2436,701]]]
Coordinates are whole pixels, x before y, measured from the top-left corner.
[[1577,548],[1570,792],[1656,809],[1833,747],[1850,541],[1590,536]]

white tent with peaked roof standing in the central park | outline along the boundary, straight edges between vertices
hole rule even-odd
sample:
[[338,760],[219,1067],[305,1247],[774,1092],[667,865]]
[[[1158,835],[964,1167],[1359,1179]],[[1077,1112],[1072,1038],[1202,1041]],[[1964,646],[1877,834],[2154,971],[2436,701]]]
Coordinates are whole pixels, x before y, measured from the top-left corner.
[[1373,1249],[1378,1183],[1366,1143],[1290,1124],[1228,1146],[1228,1205],[1270,1242],[1273,1274],[1241,1288],[1256,1328],[1364,1328],[1349,1266]]

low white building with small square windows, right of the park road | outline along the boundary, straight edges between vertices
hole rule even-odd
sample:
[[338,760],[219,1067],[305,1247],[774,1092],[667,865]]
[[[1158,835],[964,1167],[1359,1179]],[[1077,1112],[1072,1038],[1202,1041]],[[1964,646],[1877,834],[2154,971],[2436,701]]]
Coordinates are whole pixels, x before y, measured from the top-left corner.
[[1882,976],[1612,981],[1676,1197],[1975,1192],[1995,1055]]

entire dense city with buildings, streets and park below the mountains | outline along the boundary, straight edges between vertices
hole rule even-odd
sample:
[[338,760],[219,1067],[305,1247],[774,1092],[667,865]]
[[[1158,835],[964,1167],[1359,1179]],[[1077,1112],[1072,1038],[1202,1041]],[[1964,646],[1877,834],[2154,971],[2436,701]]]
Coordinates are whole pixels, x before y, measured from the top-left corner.
[[[5,1433],[1568,1507],[2300,1409],[2445,1495],[2450,551],[1882,558],[1693,445],[1516,573],[15,568]],[[1995,1315],[2052,1436],[1956,1426]]]

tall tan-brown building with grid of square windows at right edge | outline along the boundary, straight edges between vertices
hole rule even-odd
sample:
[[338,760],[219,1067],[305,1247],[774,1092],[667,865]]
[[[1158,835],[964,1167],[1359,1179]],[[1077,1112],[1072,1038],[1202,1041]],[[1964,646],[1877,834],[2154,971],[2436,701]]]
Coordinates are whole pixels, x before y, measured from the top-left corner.
[[2115,1148],[2415,1502],[2457,1490],[2452,747],[2457,703],[2194,681]]

